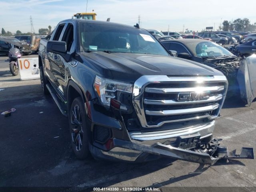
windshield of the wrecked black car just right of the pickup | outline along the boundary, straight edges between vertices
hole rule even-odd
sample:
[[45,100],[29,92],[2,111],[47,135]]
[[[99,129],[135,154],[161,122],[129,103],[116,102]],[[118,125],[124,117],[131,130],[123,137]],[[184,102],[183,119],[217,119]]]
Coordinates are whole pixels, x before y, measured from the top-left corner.
[[217,58],[221,56],[234,56],[234,54],[232,54],[222,46],[210,41],[192,42],[186,45],[195,56],[199,57]]

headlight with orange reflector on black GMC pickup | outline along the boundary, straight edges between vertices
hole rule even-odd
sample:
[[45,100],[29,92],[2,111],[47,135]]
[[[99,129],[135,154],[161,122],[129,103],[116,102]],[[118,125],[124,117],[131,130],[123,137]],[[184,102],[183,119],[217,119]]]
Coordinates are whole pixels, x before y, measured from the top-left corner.
[[104,106],[110,106],[110,99],[119,100],[120,92],[132,94],[132,84],[96,76],[94,89]]

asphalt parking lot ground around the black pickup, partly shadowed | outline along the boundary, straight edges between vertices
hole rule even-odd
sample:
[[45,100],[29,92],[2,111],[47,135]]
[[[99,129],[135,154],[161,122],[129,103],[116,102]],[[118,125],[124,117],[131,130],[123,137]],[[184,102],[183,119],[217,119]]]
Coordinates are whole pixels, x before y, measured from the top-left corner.
[[[143,164],[77,160],[70,146],[67,119],[54,100],[45,97],[40,80],[12,76],[6,56],[0,57],[0,186],[240,186],[256,187],[256,160],[230,160],[214,166],[163,158]],[[256,102],[245,107],[227,100],[217,120],[215,138],[228,150],[256,149]],[[254,153],[255,155],[255,153]]]

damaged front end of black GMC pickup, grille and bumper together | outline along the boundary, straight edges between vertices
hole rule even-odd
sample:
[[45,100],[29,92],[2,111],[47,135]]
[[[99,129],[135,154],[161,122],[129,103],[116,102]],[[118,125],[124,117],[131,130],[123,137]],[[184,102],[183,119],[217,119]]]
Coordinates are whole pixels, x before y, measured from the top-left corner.
[[[228,82],[225,76],[142,76],[104,112],[86,102],[95,158],[144,162],[170,157],[202,164],[254,158],[252,148],[228,152],[212,138]],[[189,93],[189,94],[188,94]]]

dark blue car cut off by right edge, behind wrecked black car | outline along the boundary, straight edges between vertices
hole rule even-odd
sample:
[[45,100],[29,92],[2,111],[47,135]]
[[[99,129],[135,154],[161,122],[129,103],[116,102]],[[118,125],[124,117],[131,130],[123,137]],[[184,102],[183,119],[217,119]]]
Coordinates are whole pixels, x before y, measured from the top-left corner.
[[256,54],[256,39],[246,42],[244,44],[238,44],[234,47],[234,52],[240,56],[250,56]]

